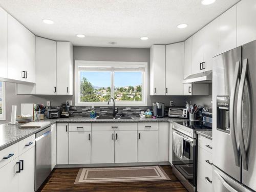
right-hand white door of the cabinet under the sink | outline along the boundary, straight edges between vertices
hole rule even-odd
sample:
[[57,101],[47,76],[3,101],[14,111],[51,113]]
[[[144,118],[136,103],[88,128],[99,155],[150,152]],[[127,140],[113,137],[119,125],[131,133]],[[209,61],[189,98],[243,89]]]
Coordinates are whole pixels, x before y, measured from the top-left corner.
[[137,131],[115,132],[115,163],[137,162]]

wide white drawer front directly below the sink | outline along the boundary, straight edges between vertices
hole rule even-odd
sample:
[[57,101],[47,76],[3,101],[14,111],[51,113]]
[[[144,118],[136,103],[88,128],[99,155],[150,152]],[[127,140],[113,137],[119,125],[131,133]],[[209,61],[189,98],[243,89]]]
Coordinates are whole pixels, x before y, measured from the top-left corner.
[[137,123],[92,123],[92,131],[137,131]]

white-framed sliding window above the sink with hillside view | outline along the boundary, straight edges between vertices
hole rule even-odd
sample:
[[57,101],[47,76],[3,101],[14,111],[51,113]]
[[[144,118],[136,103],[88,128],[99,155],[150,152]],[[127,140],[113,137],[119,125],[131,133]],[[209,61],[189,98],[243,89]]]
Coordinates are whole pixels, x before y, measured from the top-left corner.
[[76,61],[76,105],[147,104],[147,63]]

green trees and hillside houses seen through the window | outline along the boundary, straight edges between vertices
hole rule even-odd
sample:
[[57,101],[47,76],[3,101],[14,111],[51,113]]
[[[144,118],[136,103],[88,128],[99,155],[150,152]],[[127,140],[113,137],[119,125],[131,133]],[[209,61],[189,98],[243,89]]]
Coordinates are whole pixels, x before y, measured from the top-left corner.
[[[106,102],[111,97],[110,87],[96,88],[86,77],[82,77],[80,86],[81,102]],[[122,101],[141,101],[141,91],[141,86],[114,88],[114,98]]]

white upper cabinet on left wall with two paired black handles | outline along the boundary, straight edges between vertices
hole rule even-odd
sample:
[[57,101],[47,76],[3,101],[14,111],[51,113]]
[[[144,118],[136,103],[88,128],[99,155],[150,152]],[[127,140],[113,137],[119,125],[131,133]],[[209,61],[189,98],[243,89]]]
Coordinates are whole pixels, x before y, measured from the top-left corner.
[[8,14],[7,78],[35,82],[35,35]]

